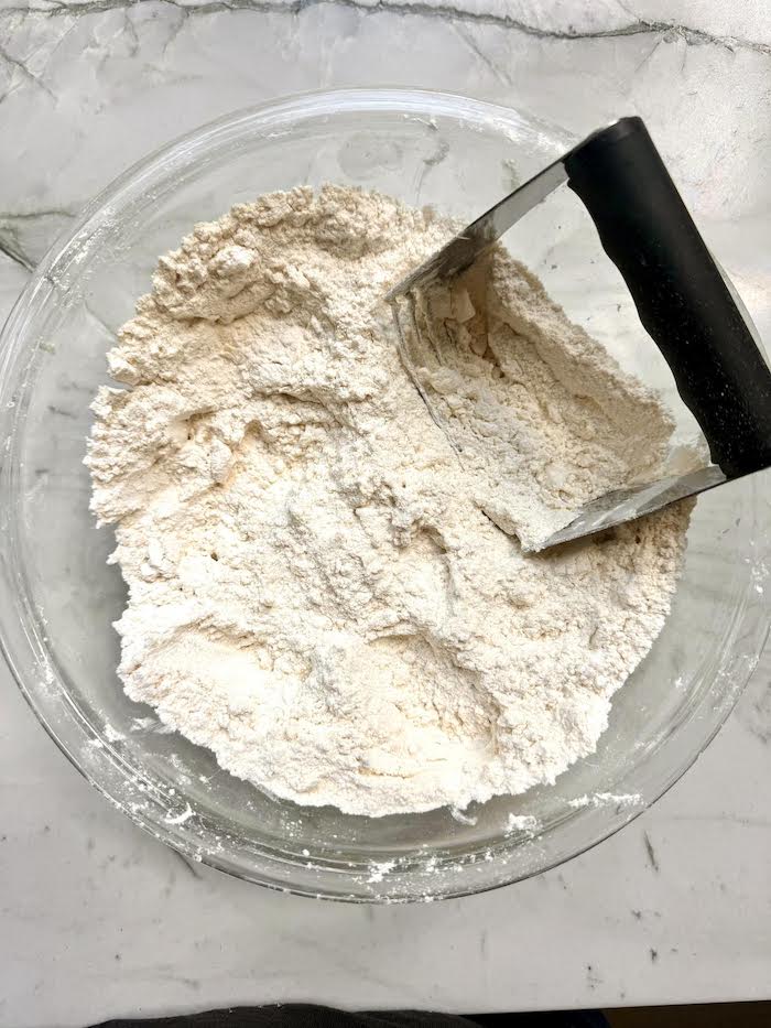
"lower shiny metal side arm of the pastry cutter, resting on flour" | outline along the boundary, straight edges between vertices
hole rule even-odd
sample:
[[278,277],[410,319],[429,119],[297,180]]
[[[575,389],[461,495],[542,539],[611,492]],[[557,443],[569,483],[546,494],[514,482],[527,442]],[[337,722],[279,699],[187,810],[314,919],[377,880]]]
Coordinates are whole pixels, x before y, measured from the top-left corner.
[[686,496],[696,496],[706,489],[713,489],[715,486],[723,485],[724,481],[728,481],[728,478],[719,467],[710,464],[709,467],[699,468],[699,470],[691,472],[688,475],[672,475],[669,478],[662,478],[660,481],[647,483],[631,489],[619,489],[616,493],[607,493],[605,496],[600,496],[587,504],[578,517],[565,528],[554,532],[540,545],[531,547],[525,552],[536,553],[549,549],[549,547],[556,547],[561,542],[569,542],[572,539],[580,539],[583,535],[601,532],[604,529],[621,524],[623,521],[631,521],[634,518],[641,518],[643,515],[652,513],[654,510],[660,510],[662,507],[666,507],[667,504],[682,500]]

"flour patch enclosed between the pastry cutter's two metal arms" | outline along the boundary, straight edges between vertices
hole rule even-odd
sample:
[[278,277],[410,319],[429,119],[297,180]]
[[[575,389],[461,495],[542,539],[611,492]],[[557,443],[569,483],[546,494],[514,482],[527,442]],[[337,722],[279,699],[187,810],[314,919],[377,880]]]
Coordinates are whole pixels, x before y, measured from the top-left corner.
[[479,507],[524,548],[590,499],[664,477],[674,422],[522,264],[479,261],[455,288],[421,295],[414,324],[417,385],[474,473]]

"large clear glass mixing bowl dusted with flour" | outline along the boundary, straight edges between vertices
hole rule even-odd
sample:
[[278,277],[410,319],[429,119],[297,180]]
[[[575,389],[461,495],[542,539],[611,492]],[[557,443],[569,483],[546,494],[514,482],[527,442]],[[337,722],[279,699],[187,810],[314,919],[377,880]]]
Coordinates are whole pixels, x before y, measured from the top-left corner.
[[[468,218],[571,142],[514,110],[427,93],[327,93],[239,112],[113,183],[54,246],[12,312],[0,376],[3,649],[69,759],[182,853],[335,899],[433,899],[504,885],[568,859],[653,802],[705,747],[746,683],[768,627],[762,479],[699,500],[672,615],[616,695],[597,754],[556,786],[522,797],[463,813],[382,819],[300,808],[232,778],[208,751],[165,732],[150,708],[126,697],[116,675],[111,623],[124,587],[106,563],[111,534],[97,531],[88,513],[82,462],[89,403],[108,380],[106,350],[148,290],[158,255],[194,221],[297,183],[374,187]],[[597,278],[594,258],[585,259],[594,240],[560,203],[550,214],[549,205],[539,208],[521,248],[549,278],[562,267],[553,245],[566,240],[579,257],[575,274],[550,288],[602,336],[618,282],[612,273]],[[653,349],[648,343],[636,359],[670,388]]]

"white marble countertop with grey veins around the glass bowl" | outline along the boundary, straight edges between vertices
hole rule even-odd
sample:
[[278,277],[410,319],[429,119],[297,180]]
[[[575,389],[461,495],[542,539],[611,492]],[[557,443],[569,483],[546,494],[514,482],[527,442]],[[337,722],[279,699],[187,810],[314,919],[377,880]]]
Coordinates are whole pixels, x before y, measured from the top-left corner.
[[[410,85],[574,129],[643,115],[771,338],[767,0],[0,0],[0,316],[82,204],[232,108]],[[191,867],[102,801],[0,670],[0,1025],[218,1004],[501,1010],[771,998],[771,658],[696,767],[620,835],[414,908]]]

